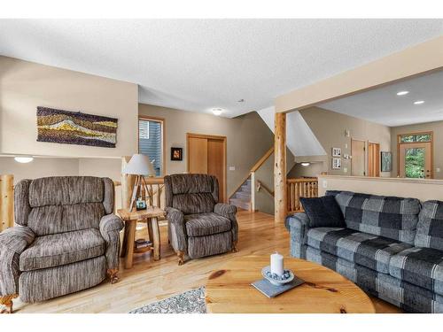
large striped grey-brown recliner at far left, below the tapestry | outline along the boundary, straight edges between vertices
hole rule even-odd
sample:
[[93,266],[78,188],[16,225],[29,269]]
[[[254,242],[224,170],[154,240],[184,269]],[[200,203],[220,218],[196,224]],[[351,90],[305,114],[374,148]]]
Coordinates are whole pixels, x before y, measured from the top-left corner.
[[34,303],[117,282],[120,230],[108,178],[89,176],[23,180],[15,186],[19,226],[0,233],[0,305],[12,298]]

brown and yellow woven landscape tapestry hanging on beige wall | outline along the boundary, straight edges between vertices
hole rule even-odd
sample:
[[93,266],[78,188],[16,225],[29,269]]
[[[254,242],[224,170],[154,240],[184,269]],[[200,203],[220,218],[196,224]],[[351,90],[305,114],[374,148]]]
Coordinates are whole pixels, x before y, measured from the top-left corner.
[[37,141],[115,148],[117,119],[37,107]]

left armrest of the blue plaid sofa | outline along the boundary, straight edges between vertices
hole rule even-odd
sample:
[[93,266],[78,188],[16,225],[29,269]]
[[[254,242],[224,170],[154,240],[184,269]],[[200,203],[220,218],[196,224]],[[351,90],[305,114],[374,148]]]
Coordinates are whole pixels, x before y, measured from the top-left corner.
[[307,243],[307,231],[310,228],[307,214],[299,212],[286,217],[285,226],[291,232],[291,256],[306,259],[304,246]]

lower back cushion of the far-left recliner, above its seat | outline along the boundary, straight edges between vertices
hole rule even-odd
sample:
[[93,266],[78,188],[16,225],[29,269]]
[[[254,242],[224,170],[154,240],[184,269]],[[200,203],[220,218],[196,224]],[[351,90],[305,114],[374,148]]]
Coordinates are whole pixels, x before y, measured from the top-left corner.
[[27,226],[35,235],[51,235],[98,228],[104,215],[102,203],[38,206],[29,213]]

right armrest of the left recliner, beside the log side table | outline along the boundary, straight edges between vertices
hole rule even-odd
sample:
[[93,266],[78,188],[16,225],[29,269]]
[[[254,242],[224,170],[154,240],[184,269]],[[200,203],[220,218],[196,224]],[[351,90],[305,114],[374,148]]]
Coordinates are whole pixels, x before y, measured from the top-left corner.
[[123,220],[113,213],[104,215],[100,220],[100,234],[106,243],[105,257],[108,270],[119,268],[120,230],[124,226]]

